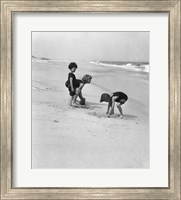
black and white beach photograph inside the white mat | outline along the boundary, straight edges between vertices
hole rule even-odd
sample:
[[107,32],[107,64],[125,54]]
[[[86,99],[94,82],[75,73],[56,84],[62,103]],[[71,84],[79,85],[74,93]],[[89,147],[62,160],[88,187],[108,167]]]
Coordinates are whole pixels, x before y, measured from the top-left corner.
[[31,32],[32,169],[149,169],[150,32]]

